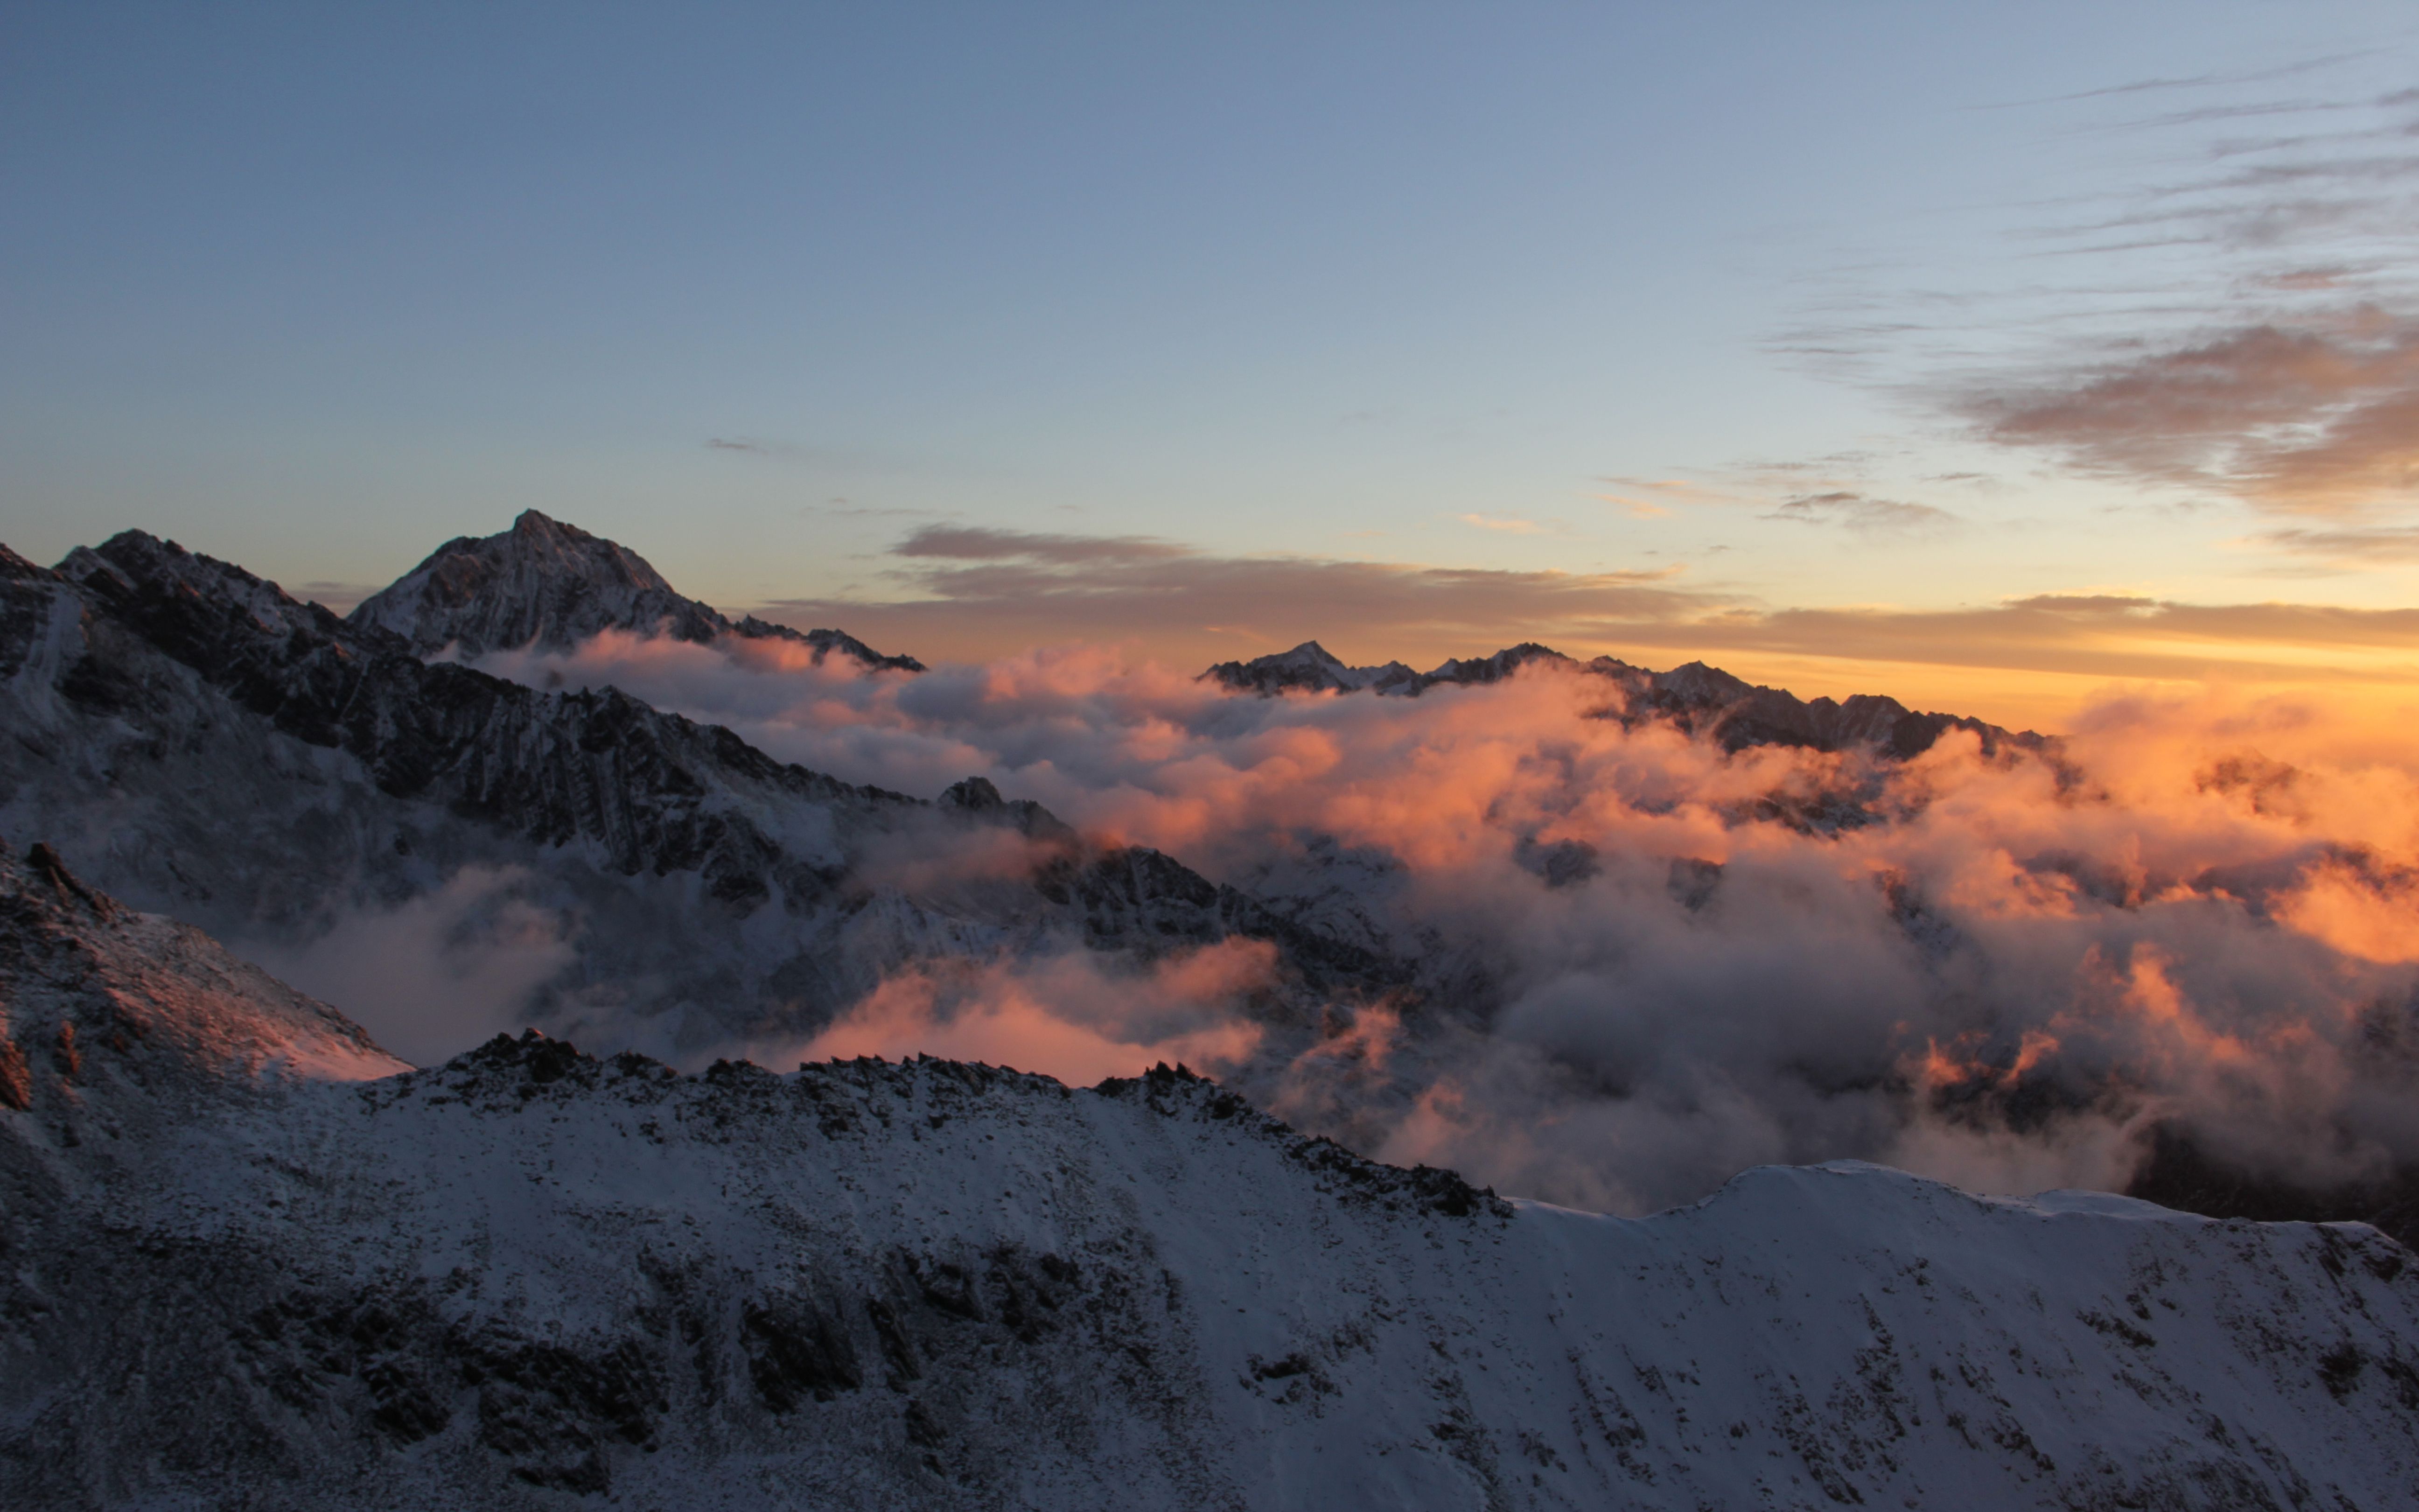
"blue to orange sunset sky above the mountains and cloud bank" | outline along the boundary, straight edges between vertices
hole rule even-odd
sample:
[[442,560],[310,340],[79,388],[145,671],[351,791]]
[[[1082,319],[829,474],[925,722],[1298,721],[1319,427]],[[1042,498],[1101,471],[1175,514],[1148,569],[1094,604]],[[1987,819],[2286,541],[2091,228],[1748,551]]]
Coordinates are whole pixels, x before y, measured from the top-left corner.
[[2419,714],[2407,5],[0,0],[0,542]]

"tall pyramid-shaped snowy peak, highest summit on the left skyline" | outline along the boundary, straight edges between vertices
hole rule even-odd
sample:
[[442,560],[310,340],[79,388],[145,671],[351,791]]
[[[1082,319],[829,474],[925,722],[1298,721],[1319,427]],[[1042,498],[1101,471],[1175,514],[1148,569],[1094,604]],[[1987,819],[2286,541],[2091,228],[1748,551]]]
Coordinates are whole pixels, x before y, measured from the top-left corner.
[[445,542],[428,561],[360,600],[351,622],[392,631],[418,656],[445,648],[464,658],[523,646],[568,651],[602,629],[627,629],[702,644],[723,636],[796,641],[810,646],[815,660],[837,651],[868,670],[924,670],[912,656],[883,656],[837,629],[796,631],[752,614],[733,624],[675,593],[629,547],[537,510],[523,510],[503,535]]

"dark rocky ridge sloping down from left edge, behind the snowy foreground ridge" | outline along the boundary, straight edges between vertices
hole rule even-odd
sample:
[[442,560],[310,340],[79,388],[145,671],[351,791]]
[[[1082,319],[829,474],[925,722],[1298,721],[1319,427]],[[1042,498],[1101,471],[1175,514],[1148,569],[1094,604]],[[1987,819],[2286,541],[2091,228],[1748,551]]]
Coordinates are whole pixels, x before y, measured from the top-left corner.
[[[1277,951],[1272,1021],[1318,1023],[1321,1004],[1403,980],[1168,856],[1086,847],[989,784],[931,803],[617,689],[431,663],[377,614],[336,619],[143,532],[58,571],[0,559],[0,685],[17,733],[0,832],[48,837],[106,888],[261,958],[411,919],[423,956],[537,931],[515,960],[554,968],[498,997],[501,1021],[711,1055],[806,1038],[910,960],[1089,951],[1125,970],[1231,936]],[[486,890],[431,917],[462,878]]]

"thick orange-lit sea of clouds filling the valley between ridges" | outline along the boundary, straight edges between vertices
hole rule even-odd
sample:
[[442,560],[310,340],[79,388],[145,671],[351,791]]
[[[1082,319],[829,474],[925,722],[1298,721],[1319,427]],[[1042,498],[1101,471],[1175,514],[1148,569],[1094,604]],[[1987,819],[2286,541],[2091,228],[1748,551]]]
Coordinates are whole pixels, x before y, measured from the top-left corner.
[[1725,752],[1553,665],[1420,699],[1096,646],[905,677],[607,634],[479,665],[851,781],[980,774],[1420,968],[1299,1050],[1253,1018],[1265,963],[919,965],[784,1055],[1190,1060],[1369,1154],[1611,1212],[1841,1156],[2112,1188],[2153,1127],[2305,1185],[2419,1159],[2419,786],[2305,704],[2112,689],[2049,752],[1952,731],[1887,762]]

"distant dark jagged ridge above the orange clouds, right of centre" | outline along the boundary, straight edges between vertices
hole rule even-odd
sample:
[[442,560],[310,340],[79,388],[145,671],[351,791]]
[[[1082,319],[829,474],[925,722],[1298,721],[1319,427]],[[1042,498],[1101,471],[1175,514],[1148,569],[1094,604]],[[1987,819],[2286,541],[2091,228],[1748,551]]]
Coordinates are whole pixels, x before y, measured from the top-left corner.
[[1732,752],[1749,745],[1865,748],[1882,757],[1906,760],[1930,750],[1952,728],[1971,731],[1981,740],[1984,755],[1998,755],[2001,750],[2051,750],[2051,740],[2032,731],[2005,731],[1957,714],[1916,714],[1889,697],[1855,694],[1846,704],[1834,699],[1809,702],[1778,687],[1744,682],[1701,660],[1672,668],[1669,673],[1650,673],[1611,656],[1582,663],[1536,641],[1507,646],[1495,656],[1449,658],[1427,673],[1413,673],[1398,660],[1381,668],[1347,668],[1318,641],[1304,641],[1292,651],[1253,660],[1222,660],[1200,677],[1260,697],[1280,692],[1372,692],[1415,699],[1430,687],[1500,682],[1531,663],[1551,663],[1604,677],[1623,689],[1630,719],[1669,719],[1684,731],[1703,733]]

